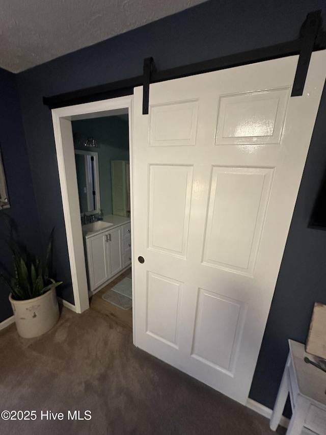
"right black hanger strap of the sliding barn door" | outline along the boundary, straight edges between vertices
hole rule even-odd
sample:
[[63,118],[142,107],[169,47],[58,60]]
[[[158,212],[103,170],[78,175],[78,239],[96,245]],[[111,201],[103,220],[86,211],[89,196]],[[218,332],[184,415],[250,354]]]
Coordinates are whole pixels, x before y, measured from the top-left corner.
[[321,11],[310,12],[302,25],[302,45],[293,82],[291,97],[301,96],[304,91],[311,53],[321,31]]

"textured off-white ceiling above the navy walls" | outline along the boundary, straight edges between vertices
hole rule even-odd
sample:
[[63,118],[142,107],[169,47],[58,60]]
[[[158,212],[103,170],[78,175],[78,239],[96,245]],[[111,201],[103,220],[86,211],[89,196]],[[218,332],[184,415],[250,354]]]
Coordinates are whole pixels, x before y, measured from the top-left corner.
[[20,72],[206,0],[0,0],[0,67]]

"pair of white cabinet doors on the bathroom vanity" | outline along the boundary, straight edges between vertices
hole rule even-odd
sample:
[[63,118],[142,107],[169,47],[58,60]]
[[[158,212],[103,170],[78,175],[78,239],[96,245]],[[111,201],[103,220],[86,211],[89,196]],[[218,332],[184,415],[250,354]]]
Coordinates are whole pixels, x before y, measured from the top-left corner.
[[122,269],[121,226],[86,239],[90,290],[104,284]]

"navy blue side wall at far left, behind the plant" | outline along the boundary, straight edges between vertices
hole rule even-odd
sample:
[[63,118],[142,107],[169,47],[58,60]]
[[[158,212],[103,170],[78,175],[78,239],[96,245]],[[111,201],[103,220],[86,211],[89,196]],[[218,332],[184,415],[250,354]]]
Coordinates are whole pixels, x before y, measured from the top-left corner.
[[[7,227],[3,214],[15,219],[21,241],[39,253],[40,227],[30,162],[20,115],[15,74],[0,68],[0,148],[6,173],[10,209],[0,211],[0,264],[11,269],[11,254],[5,243]],[[9,289],[0,281],[0,322],[12,316]]]

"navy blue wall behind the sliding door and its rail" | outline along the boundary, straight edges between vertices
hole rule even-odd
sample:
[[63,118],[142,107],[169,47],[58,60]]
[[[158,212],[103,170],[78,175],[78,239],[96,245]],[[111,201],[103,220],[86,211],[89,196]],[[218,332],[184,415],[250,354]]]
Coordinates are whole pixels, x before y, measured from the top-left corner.
[[[319,0],[209,1],[18,74],[40,222],[43,232],[56,224],[56,264],[67,300],[72,290],[55,142],[42,96],[140,75],[148,56],[161,70],[292,40],[306,14],[321,7]],[[325,112],[324,94],[250,393],[268,407],[275,402],[287,339],[304,342],[314,301],[326,302],[326,233],[307,228],[326,166]]]

